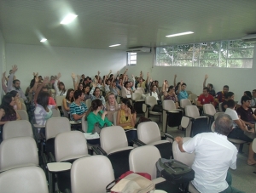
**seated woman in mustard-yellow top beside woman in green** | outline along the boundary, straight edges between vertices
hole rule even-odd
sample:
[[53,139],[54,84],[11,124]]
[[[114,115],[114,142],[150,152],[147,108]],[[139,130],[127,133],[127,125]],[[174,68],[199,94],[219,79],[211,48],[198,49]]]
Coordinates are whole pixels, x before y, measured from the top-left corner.
[[120,110],[118,111],[116,124],[125,129],[128,143],[137,139],[137,130],[133,130],[136,124],[137,113],[131,106],[129,99],[121,99]]

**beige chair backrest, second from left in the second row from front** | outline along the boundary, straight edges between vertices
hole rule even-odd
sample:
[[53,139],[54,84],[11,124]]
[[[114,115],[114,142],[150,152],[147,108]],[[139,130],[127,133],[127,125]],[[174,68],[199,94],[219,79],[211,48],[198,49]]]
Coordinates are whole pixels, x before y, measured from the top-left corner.
[[84,133],[68,131],[55,137],[56,162],[67,161],[88,155],[87,141]]

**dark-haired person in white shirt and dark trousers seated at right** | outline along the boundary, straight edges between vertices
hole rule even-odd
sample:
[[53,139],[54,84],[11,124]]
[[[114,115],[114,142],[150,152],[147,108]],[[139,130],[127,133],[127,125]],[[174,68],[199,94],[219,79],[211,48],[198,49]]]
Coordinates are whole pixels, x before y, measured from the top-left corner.
[[[233,99],[230,99],[227,105],[228,105],[228,108],[226,109],[225,114],[228,114],[229,116],[231,116],[233,120],[233,130],[228,135],[228,138],[240,139],[250,143],[253,142],[253,139],[248,137],[247,135],[249,135],[250,133],[253,133],[254,129],[248,130],[246,124],[238,117],[235,111],[235,106],[236,106],[235,101]],[[253,143],[249,145],[249,154],[247,158],[247,164],[250,166],[256,164],[256,160],[254,160],[254,157],[253,157],[254,152],[253,152],[252,144]]]

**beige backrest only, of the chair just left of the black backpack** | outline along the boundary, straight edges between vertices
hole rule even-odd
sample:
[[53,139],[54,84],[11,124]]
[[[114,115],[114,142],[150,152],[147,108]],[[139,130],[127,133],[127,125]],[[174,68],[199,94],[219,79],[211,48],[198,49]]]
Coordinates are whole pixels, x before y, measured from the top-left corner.
[[130,152],[130,170],[135,173],[148,173],[151,179],[156,179],[155,163],[160,157],[160,151],[153,145],[137,147]]

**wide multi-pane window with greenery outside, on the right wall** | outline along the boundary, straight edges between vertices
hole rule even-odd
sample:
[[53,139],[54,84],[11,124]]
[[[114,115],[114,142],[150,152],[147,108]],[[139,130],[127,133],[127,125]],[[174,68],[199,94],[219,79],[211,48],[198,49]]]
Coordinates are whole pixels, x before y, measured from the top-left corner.
[[241,40],[156,48],[155,65],[252,68],[254,44]]

